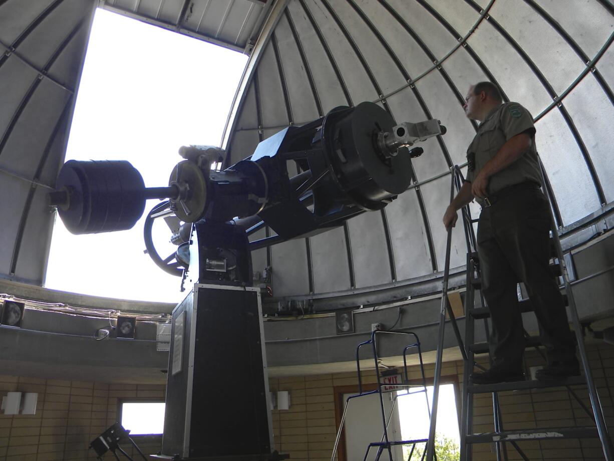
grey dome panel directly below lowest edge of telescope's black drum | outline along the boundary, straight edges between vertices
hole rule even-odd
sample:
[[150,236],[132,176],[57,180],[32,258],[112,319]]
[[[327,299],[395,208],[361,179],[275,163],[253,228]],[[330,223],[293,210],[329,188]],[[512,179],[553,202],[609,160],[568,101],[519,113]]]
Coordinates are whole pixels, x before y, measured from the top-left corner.
[[363,213],[348,220],[356,288],[392,281],[381,214]]

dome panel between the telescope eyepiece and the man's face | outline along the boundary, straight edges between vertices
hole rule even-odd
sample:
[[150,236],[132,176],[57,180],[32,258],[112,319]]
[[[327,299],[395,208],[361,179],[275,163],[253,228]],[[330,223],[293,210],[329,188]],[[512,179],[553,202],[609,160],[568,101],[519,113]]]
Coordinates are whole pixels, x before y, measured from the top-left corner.
[[[467,88],[462,91],[465,95],[472,82],[467,82]],[[431,72],[416,83],[416,88],[421,94],[426,95],[425,98],[429,104],[432,116],[441,120],[441,124],[448,128],[448,132],[441,136],[443,141],[449,148],[449,154],[453,164],[462,164],[465,162],[467,147],[475,135],[475,129],[471,122],[465,117],[465,111],[461,103],[457,101],[456,96],[450,89],[449,85],[443,80],[440,73]],[[416,168],[418,168],[419,160],[416,160]],[[443,173],[443,171],[437,171]],[[423,179],[418,176],[418,181]]]

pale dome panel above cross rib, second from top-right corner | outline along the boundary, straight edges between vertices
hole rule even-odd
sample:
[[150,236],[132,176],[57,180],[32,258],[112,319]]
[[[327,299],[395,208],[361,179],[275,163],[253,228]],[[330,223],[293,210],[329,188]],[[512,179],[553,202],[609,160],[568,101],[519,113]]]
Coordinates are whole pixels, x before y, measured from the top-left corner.
[[567,89],[585,67],[564,38],[525,2],[497,0],[490,14],[529,55],[556,93]]

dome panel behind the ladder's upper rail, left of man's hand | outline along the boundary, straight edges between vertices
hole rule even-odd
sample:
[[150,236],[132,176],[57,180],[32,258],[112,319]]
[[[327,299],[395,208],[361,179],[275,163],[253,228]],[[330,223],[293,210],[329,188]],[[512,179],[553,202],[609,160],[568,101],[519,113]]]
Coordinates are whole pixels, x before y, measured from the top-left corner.
[[[443,227],[441,219],[450,203],[451,181],[451,176],[445,175],[420,186],[429,219],[430,232],[433,236],[438,270],[443,270],[446,264],[447,232],[445,227]],[[452,233],[450,267],[464,266],[467,262],[465,234],[462,232],[460,223],[454,229],[455,231]]]

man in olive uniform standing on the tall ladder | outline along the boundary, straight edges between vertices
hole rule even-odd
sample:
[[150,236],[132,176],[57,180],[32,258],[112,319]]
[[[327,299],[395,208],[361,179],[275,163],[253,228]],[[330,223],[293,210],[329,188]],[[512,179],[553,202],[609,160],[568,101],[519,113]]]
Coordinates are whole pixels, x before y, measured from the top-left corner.
[[537,379],[580,373],[565,306],[548,268],[550,210],[540,187],[535,127],[518,103],[502,103],[491,82],[470,87],[467,117],[480,121],[467,149],[467,180],[443,216],[454,227],[457,210],[474,197],[482,211],[478,224],[481,285],[491,312],[491,368],[474,372],[475,384],[523,380],[524,330],[516,283],[524,282],[542,328],[548,366]]

